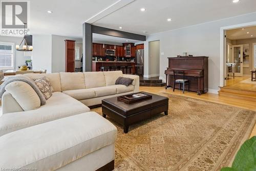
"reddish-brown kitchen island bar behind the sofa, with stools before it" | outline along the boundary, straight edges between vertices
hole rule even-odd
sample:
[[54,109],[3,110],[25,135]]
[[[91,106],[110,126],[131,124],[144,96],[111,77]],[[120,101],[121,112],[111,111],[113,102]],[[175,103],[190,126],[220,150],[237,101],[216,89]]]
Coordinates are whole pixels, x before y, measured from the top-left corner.
[[135,74],[135,62],[128,62],[128,61],[92,61],[92,71],[100,71],[100,67],[113,67],[117,66],[120,68],[120,66],[132,66],[133,67],[133,74]]

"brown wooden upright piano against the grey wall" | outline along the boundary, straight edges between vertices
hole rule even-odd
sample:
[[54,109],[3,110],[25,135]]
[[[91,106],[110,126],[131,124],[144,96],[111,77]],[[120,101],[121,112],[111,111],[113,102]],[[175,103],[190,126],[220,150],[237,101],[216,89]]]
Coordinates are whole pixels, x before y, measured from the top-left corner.
[[[173,70],[184,71],[185,79],[189,80],[189,91],[196,91],[198,95],[208,92],[207,56],[168,58],[168,68],[164,72],[166,75],[165,89],[174,86]],[[175,77],[176,79],[182,79],[183,75],[175,74]]]

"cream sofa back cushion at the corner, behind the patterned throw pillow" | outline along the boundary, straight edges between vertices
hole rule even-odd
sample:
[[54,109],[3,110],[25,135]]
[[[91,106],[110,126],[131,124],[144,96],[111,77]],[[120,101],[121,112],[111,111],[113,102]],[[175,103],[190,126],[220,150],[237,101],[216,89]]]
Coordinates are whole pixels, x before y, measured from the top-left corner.
[[30,79],[47,77],[52,84],[53,92],[61,91],[59,73],[27,73],[24,75],[28,76]]

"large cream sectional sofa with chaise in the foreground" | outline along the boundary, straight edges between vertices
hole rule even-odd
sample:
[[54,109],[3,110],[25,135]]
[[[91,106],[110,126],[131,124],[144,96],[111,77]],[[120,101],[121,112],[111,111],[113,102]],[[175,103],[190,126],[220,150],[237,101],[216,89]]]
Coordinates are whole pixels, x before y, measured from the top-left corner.
[[[27,111],[9,92],[3,94],[0,165],[37,170],[96,170],[113,165],[117,129],[89,107],[105,98],[138,92],[137,75],[107,71],[17,76],[47,77],[53,94],[45,105]],[[118,77],[134,81],[129,86],[115,85]]]

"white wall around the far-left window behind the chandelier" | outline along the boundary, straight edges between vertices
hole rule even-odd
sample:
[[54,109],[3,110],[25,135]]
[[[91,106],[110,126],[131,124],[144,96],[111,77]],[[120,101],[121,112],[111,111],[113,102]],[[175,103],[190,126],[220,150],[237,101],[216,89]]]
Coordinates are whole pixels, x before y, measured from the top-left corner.
[[[15,45],[19,45],[22,42],[23,37],[12,37],[12,36],[0,36],[0,42],[12,42]],[[14,46],[15,48],[15,46]],[[15,68],[18,69],[18,66],[24,65],[26,60],[31,59],[31,52],[20,52],[15,50]]]

